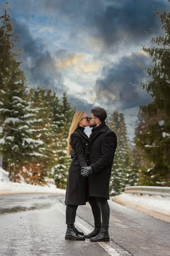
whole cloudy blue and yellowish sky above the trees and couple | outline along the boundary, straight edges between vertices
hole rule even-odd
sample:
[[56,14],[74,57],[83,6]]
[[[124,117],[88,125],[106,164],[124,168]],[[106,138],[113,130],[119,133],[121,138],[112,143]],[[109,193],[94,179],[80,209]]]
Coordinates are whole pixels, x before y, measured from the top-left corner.
[[88,115],[95,106],[118,110],[132,140],[139,105],[151,101],[140,86],[152,65],[142,45],[161,34],[154,10],[169,9],[168,0],[9,0],[9,7],[28,86],[66,91]]

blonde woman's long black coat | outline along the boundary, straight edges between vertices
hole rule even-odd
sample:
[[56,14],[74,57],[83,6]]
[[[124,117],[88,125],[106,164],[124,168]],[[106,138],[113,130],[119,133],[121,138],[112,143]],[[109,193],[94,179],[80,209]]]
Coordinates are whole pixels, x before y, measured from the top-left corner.
[[79,128],[71,134],[71,147],[75,156],[68,171],[65,204],[84,205],[87,201],[87,177],[81,175],[81,167],[88,166],[89,138]]

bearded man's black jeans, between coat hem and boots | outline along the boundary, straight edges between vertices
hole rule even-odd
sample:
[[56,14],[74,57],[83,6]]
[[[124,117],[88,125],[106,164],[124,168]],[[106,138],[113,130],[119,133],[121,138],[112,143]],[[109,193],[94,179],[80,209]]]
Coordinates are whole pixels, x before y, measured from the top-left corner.
[[101,214],[102,214],[102,226],[108,227],[109,217],[110,217],[110,207],[108,200],[101,197],[90,196],[88,202],[91,205],[91,209],[94,215],[94,225],[101,224]]

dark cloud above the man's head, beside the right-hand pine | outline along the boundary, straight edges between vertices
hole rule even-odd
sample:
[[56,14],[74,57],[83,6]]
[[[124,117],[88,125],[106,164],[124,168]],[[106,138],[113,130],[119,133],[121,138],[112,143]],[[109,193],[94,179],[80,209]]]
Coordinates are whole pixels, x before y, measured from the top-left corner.
[[139,64],[148,65],[149,58],[144,54],[133,53],[123,57],[119,63],[104,67],[102,78],[96,80],[97,99],[107,99],[108,105],[119,99],[121,108],[132,108],[150,102],[150,96],[139,87],[144,79],[148,79],[146,71]]

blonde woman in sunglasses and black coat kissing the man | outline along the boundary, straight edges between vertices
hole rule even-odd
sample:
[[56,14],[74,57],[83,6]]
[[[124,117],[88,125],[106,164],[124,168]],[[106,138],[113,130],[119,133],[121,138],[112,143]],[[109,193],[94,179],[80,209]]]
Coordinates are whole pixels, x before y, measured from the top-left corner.
[[75,156],[68,171],[67,189],[65,196],[67,231],[65,239],[85,240],[84,234],[74,227],[78,205],[85,205],[87,201],[87,178],[81,175],[81,167],[88,166],[89,138],[84,133],[89,125],[87,113],[77,111],[68,134],[68,156],[74,149]]

